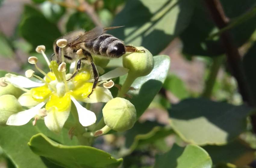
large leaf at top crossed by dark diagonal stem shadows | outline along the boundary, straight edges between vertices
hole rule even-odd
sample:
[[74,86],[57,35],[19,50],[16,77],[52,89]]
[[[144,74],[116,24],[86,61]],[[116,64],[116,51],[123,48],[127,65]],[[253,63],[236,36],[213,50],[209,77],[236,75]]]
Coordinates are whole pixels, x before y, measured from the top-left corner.
[[130,0],[117,14],[108,33],[125,44],[144,46],[153,55],[161,52],[189,24],[194,0]]

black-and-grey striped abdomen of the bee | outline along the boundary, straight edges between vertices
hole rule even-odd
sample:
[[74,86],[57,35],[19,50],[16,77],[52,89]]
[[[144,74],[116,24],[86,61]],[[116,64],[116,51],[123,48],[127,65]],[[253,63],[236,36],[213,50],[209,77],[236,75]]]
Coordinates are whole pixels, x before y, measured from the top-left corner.
[[102,34],[98,38],[86,42],[85,47],[94,54],[110,58],[118,58],[125,54],[123,42],[108,34]]

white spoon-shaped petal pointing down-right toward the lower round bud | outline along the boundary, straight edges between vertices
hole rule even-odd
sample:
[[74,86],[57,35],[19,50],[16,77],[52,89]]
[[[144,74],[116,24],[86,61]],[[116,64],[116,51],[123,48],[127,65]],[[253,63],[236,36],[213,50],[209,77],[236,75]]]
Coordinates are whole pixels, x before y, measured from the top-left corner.
[[76,110],[78,113],[79,122],[84,127],[92,125],[96,122],[96,115],[90,110],[84,108],[75,98],[71,96],[71,100],[74,102],[76,106]]

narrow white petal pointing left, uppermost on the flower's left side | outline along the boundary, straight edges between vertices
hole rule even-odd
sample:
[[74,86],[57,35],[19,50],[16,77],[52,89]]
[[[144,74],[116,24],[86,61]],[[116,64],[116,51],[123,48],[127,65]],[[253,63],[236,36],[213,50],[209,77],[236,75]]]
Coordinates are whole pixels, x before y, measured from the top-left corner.
[[6,81],[10,82],[16,87],[20,88],[33,88],[45,85],[44,83],[34,82],[24,76],[17,76],[11,73],[5,75]]

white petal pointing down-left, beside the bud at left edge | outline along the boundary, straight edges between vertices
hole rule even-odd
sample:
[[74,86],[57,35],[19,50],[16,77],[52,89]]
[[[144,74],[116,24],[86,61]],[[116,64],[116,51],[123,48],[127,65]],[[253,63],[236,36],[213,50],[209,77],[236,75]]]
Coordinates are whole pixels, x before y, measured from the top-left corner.
[[38,110],[41,109],[45,105],[45,102],[39,103],[35,107],[21,111],[19,113],[15,113],[11,115],[6,125],[25,125],[27,124],[36,114],[38,113]]

